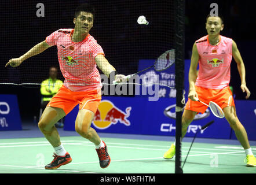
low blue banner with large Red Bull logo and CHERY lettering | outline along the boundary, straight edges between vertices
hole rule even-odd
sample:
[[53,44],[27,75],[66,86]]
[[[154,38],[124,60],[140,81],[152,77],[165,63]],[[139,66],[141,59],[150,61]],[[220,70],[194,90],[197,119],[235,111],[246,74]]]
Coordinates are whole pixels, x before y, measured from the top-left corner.
[[[75,130],[78,106],[65,118],[64,130]],[[198,132],[201,138],[229,139],[231,128],[225,119],[218,119],[209,109],[198,114],[189,125],[186,136],[194,136],[204,124],[209,128]],[[103,97],[92,127],[97,132],[145,135],[175,135],[175,99],[148,101],[145,97]]]

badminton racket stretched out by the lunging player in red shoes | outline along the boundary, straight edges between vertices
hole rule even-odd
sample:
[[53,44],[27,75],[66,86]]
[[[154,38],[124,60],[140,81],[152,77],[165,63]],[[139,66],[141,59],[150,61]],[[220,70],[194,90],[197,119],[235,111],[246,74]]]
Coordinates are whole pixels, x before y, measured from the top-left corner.
[[[158,57],[158,59],[156,59],[155,63],[152,66],[149,66],[148,68],[138,71],[137,73],[125,76],[126,80],[130,79],[134,75],[137,75],[138,73],[141,73],[153,67],[158,72],[163,71],[167,68],[170,68],[170,66],[174,64],[174,61],[175,61],[175,50],[165,51],[161,56]],[[114,80],[113,84],[118,84],[118,82]]]

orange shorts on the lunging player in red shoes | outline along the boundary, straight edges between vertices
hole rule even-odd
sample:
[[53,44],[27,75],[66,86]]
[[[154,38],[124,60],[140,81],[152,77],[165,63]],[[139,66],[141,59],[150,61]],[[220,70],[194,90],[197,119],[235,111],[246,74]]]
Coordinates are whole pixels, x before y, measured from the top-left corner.
[[101,90],[75,92],[62,86],[60,90],[58,90],[57,94],[54,95],[54,97],[50,100],[47,106],[61,108],[67,115],[79,103],[79,110],[89,109],[95,114],[98,105],[100,105],[100,101]]

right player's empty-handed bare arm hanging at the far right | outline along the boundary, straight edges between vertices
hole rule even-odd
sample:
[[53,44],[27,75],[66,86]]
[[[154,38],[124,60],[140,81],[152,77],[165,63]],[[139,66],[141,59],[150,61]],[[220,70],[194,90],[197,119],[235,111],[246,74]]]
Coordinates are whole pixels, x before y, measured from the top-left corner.
[[246,92],[246,99],[248,99],[251,95],[250,90],[246,86],[246,68],[244,66],[244,62],[242,60],[241,54],[239,50],[237,49],[237,45],[235,41],[232,43],[232,56],[236,61],[237,69],[241,78],[241,89],[243,92]]

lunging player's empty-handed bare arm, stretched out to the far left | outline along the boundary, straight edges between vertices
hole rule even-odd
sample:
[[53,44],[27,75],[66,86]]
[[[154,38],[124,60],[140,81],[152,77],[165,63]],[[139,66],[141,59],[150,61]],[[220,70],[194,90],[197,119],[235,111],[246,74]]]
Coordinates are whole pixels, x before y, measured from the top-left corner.
[[41,43],[38,43],[37,45],[35,45],[34,47],[32,47],[27,53],[25,53],[23,56],[19,57],[19,58],[12,58],[11,60],[9,60],[9,62],[5,65],[5,66],[12,66],[17,67],[19,66],[24,60],[27,60],[28,58],[35,56],[39,53],[42,53],[43,51],[45,51],[47,48],[49,48],[51,46],[49,46],[46,41],[44,40]]

